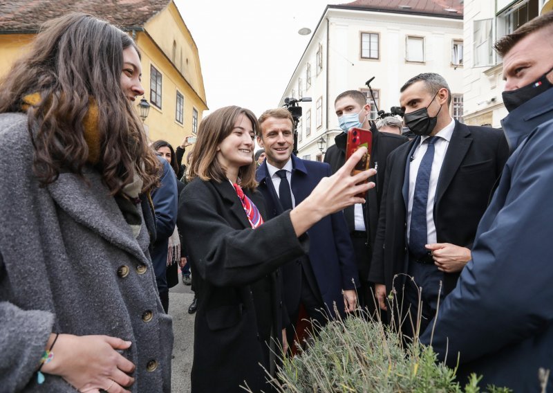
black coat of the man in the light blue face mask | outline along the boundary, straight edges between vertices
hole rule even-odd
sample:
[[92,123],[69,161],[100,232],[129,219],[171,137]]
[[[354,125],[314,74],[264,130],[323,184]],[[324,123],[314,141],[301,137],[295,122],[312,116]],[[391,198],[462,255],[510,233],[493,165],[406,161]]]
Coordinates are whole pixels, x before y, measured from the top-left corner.
[[[409,142],[409,139],[404,136],[389,134],[388,132],[379,132],[375,129],[373,131],[373,149],[371,152],[371,168],[376,168],[377,174],[375,174],[371,181],[374,181],[376,187],[368,190],[367,194],[367,205],[368,205],[368,214],[364,206],[363,214],[365,217],[365,228],[367,230],[367,243],[368,243],[368,257],[366,259],[366,265],[362,266],[361,273],[364,277],[359,277],[361,280],[367,280],[368,269],[371,266],[371,254],[372,254],[372,245],[375,242],[378,215],[379,215],[379,206],[382,199],[382,190],[384,188],[384,173],[386,172],[386,158],[388,155],[393,152],[406,142]],[[345,133],[339,134],[335,138],[335,145],[332,145],[328,148],[324,156],[324,162],[330,164],[330,170],[332,173],[335,173],[339,170],[342,165],[346,162],[346,141],[348,135]],[[344,209],[344,216],[346,217],[346,223],[348,223],[348,229],[350,232],[355,230],[355,216],[354,216],[354,206],[350,206]]]

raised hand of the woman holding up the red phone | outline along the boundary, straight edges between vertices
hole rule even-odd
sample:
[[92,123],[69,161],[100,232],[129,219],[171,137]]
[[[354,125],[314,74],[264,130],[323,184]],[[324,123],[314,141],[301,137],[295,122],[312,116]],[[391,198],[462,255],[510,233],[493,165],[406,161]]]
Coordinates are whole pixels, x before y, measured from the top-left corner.
[[314,223],[328,214],[339,212],[355,203],[364,203],[365,199],[356,195],[365,194],[375,187],[375,183],[365,183],[365,181],[376,174],[376,171],[370,169],[353,176],[351,172],[366,152],[366,147],[357,149],[357,152],[352,154],[335,174],[321,179],[309,197],[290,212],[290,220],[296,235],[306,232]]

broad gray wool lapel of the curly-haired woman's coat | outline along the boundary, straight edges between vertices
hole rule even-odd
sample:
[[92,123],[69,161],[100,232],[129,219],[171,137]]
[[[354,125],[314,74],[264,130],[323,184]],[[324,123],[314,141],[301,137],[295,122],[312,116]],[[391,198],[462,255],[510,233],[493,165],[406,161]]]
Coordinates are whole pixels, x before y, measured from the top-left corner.
[[[48,191],[59,208],[73,220],[134,255],[141,262],[146,262],[140,244],[133,236],[131,227],[126,223],[115,199],[102,184],[100,174],[88,172],[85,176],[90,186],[75,174],[62,173],[57,181],[47,186]],[[140,205],[138,208],[140,209]]]

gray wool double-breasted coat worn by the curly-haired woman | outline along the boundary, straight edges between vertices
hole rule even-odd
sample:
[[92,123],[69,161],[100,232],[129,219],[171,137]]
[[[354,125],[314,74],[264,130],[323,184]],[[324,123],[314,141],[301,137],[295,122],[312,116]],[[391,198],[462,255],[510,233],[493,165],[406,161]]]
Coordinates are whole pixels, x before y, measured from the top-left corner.
[[[40,188],[22,113],[0,114],[0,392],[75,392],[46,374],[50,332],[129,340],[132,392],[171,391],[171,318],[161,307],[143,224],[133,237],[100,174]],[[55,349],[55,348],[54,348]],[[55,351],[54,351],[55,352]]]

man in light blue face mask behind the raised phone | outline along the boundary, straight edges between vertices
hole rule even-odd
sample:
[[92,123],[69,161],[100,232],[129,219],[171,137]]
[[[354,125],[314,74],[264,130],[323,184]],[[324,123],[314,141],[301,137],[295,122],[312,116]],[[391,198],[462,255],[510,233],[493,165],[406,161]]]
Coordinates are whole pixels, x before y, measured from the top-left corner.
[[395,134],[382,133],[373,127],[373,122],[368,120],[371,113],[371,104],[366,102],[363,93],[357,90],[344,91],[337,96],[334,108],[338,116],[338,122],[342,129],[336,136],[335,145],[328,148],[324,162],[330,164],[332,173],[335,173],[346,162],[346,140],[348,131],[352,127],[371,129],[373,132],[373,149],[371,152],[371,168],[378,172],[373,179],[376,188],[369,190],[366,203],[358,203],[344,209],[346,222],[348,223],[348,235],[350,235],[355,250],[355,260],[361,288],[359,288],[359,305],[373,313],[377,309],[373,296],[374,284],[368,280],[368,272],[371,268],[371,255],[375,241],[378,222],[380,197],[384,185],[384,171],[386,170],[386,158],[394,149],[407,142],[407,138]]

